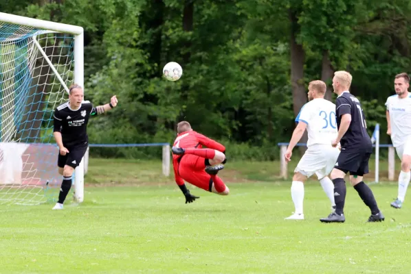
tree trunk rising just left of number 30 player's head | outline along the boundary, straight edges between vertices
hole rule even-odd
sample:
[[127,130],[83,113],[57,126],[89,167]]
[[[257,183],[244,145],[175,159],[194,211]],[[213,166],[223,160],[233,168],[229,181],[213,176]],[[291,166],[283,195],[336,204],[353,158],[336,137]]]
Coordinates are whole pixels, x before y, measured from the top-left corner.
[[[307,92],[304,87],[304,59],[305,53],[302,49],[302,45],[299,45],[296,41],[298,32],[298,18],[297,14],[293,10],[289,10],[289,19],[291,21],[291,88],[293,90],[293,111],[297,116],[304,103],[307,103]],[[300,142],[307,143],[308,136],[307,131],[304,132]],[[300,147],[300,152],[304,153],[306,147]]]

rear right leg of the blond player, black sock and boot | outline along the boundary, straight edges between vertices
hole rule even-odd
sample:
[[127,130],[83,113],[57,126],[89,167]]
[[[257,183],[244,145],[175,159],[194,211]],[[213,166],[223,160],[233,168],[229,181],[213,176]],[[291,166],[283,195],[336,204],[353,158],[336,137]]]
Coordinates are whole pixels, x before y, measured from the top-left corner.
[[379,208],[377,206],[377,201],[375,201],[375,197],[373,194],[373,191],[370,189],[369,186],[367,186],[363,182],[363,177],[362,176],[357,176],[357,175],[350,175],[350,182],[351,186],[357,190],[359,197],[364,201],[366,206],[370,208],[371,210],[371,216],[368,218],[368,222],[381,222],[384,221],[384,215],[382,214],[381,211],[379,211]]

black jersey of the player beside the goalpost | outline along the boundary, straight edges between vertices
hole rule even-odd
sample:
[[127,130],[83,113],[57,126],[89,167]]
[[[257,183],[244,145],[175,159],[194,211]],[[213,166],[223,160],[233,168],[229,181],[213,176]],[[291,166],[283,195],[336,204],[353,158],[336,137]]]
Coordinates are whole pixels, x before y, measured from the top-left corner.
[[87,145],[90,115],[97,115],[97,111],[89,101],[83,101],[78,110],[71,110],[69,102],[54,110],[54,132],[61,132],[65,147]]

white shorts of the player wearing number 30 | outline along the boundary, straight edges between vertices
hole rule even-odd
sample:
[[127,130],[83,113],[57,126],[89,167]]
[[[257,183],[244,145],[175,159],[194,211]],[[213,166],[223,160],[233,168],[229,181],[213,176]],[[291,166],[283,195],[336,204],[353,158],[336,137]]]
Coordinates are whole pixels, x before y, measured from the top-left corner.
[[294,173],[299,172],[307,177],[315,173],[318,179],[322,179],[331,173],[338,155],[340,149],[331,145],[312,145],[302,155]]

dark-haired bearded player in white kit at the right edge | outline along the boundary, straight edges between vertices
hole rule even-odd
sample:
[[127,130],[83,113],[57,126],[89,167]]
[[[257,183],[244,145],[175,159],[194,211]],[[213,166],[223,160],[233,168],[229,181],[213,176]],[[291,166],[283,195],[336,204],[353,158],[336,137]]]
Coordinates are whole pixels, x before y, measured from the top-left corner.
[[397,95],[388,97],[386,102],[387,134],[391,136],[392,145],[401,159],[398,196],[391,203],[393,208],[401,208],[411,178],[411,93],[408,92],[409,87],[410,77],[407,73],[396,75],[394,88]]

